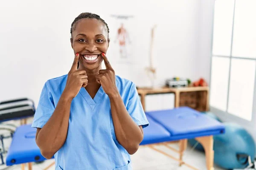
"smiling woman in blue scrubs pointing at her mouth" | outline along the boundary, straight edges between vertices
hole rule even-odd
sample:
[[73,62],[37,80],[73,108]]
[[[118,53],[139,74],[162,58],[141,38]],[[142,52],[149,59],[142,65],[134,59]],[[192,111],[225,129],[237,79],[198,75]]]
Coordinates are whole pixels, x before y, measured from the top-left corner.
[[74,62],[44,84],[32,123],[36,143],[45,158],[55,157],[56,170],[131,170],[148,126],[136,85],[115,75],[99,15],[80,14],[70,32]]

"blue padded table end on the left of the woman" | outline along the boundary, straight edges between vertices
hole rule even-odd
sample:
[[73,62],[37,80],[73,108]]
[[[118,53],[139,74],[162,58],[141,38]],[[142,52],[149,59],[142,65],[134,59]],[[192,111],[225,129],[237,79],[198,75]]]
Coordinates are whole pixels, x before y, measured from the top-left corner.
[[35,133],[36,128],[31,125],[22,125],[16,129],[6,157],[6,165],[45,160],[35,142]]

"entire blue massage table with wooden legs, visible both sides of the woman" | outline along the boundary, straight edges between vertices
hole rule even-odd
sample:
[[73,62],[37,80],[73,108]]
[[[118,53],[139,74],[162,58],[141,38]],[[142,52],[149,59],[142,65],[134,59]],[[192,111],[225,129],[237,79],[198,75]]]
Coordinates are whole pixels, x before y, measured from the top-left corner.
[[[179,161],[180,166],[184,164],[196,170],[195,167],[182,161],[187,139],[195,138],[205,149],[207,169],[213,170],[213,135],[224,133],[224,126],[220,122],[188,107],[146,112],[146,116],[150,125],[143,129],[144,139],[141,146],[150,147]],[[36,129],[31,125],[17,128],[7,154],[6,165],[29,163],[29,170],[32,170],[31,162],[45,160],[35,143],[35,133]],[[180,153],[180,159],[154,147],[156,144],[163,144],[174,150],[168,145],[172,141],[180,141],[180,150],[176,150]]]

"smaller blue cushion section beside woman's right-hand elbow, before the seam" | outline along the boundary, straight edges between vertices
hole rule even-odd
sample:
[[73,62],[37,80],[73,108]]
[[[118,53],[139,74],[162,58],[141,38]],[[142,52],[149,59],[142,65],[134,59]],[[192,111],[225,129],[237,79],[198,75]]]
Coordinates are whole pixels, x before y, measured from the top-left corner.
[[142,145],[169,141],[171,134],[162,125],[155,122],[151,117],[147,116],[147,119],[150,126],[143,129],[144,139],[140,144]]

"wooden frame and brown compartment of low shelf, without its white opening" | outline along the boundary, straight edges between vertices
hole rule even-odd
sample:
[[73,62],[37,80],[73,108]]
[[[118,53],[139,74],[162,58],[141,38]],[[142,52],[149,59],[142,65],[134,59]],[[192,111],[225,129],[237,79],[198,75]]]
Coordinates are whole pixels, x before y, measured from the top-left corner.
[[198,111],[209,111],[209,87],[185,88],[137,88],[145,110],[145,95],[147,94],[175,94],[175,107],[189,106]]

